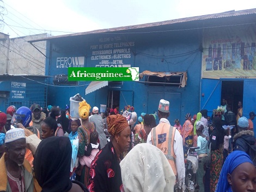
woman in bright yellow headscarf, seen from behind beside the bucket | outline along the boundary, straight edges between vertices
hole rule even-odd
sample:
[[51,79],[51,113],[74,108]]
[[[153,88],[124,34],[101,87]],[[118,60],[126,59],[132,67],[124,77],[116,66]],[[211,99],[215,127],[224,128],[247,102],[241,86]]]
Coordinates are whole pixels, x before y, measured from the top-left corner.
[[[90,112],[90,105],[86,103],[86,101],[82,101],[79,103],[78,113],[81,117],[82,125],[78,127],[78,157],[84,156],[84,149],[90,143],[90,133],[95,131],[95,126],[92,122],[89,122],[89,112]],[[85,185],[88,184],[89,178],[89,168],[85,165],[84,167],[80,167],[76,171],[76,180],[84,183]]]

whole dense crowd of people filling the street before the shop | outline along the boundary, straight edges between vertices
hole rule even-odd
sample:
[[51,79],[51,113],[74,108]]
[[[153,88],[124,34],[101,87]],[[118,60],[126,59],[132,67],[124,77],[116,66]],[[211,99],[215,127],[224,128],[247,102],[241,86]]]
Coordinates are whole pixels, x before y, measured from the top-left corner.
[[0,191],[185,191],[193,147],[197,191],[256,190],[254,112],[243,117],[239,101],[235,115],[222,99],[212,117],[187,113],[181,125],[169,122],[169,107],[161,99],[157,116],[131,106],[99,114],[83,100],[73,118],[68,105],[9,106],[0,112]]

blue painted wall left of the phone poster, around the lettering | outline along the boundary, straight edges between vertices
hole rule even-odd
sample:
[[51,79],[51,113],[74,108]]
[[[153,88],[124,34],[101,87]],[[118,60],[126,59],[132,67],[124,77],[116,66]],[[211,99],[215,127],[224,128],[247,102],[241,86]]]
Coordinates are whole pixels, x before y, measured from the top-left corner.
[[[154,31],[154,29],[152,29]],[[57,68],[58,57],[84,57],[83,67],[99,66],[101,60],[93,60],[94,50],[114,50],[115,48],[99,49],[100,44],[131,43],[129,58],[121,59],[124,65],[139,67],[139,72],[145,70],[157,72],[187,72],[187,85],[184,88],[177,86],[144,85],[138,82],[123,82],[121,88],[120,110],[127,105],[133,105],[138,114],[157,111],[160,99],[170,101],[171,124],[178,118],[184,123],[186,113],[196,114],[199,109],[200,71],[202,53],[199,51],[200,33],[194,31],[162,32],[162,33],[135,33],[135,34],[93,34],[65,39],[51,40],[50,68],[46,75],[68,74],[68,66]],[[119,43],[119,44],[114,44]],[[93,46],[98,46],[93,49]],[[113,56],[113,53],[112,53]],[[95,58],[95,57],[94,57]],[[71,63],[71,60],[69,60]],[[109,61],[112,61],[110,59]],[[104,62],[104,61],[103,61]],[[80,63],[81,64],[81,63]],[[74,65],[72,63],[71,65]],[[109,65],[110,66],[110,65]],[[73,67],[73,66],[71,66]],[[103,66],[105,67],[105,66]],[[49,79],[52,84],[52,78]],[[69,98],[80,93],[93,106],[107,103],[108,87],[85,95],[89,81],[80,81],[78,86],[49,86],[48,104],[64,107],[69,104]]]

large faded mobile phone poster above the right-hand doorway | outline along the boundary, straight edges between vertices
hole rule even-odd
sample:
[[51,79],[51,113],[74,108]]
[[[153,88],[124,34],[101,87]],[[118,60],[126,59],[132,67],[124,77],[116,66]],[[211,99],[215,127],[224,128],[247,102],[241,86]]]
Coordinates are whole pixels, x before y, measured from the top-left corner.
[[206,28],[202,78],[256,78],[256,24]]

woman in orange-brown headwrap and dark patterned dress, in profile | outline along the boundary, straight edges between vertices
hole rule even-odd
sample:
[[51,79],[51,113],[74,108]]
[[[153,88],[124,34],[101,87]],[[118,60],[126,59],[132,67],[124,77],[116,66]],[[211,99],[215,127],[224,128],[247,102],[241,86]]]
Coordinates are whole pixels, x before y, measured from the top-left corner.
[[111,141],[97,153],[91,164],[89,191],[124,191],[119,163],[121,154],[130,147],[131,129],[120,114],[108,116],[107,124]]

